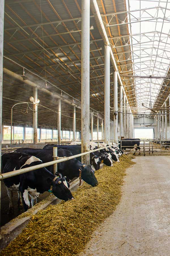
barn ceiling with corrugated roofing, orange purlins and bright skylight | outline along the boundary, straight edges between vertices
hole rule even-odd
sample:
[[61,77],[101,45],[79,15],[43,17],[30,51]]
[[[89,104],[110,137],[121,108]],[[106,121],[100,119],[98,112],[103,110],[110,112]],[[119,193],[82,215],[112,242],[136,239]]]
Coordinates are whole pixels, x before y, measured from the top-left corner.
[[[97,3],[134,116],[138,117],[146,110],[142,103],[146,107],[150,102],[152,107],[162,106],[170,92],[170,3],[147,0],[130,0],[127,4],[125,0],[97,0]],[[104,43],[92,13],[89,31],[90,107],[103,118]],[[25,70],[28,79],[44,88],[47,81],[48,90],[73,98],[78,104],[81,99],[81,1],[5,1],[4,56],[4,67],[22,75],[23,69],[11,59],[28,69]],[[150,78],[150,75],[156,78]],[[3,96],[20,101],[27,101],[28,94],[32,96],[32,89],[23,83],[7,75],[3,80]],[[113,67],[110,85],[113,107]],[[57,109],[56,103],[47,95],[41,92],[38,97],[42,105]],[[4,122],[9,120],[12,105],[13,101],[4,98]],[[63,129],[72,128],[72,108],[68,106],[67,110],[66,115],[70,118],[63,117]],[[76,114],[77,129],[81,126],[79,112]],[[55,128],[57,118],[49,121],[48,114],[39,114],[39,125]],[[31,113],[23,117],[20,112],[15,117],[15,122],[31,123],[31,120]]]

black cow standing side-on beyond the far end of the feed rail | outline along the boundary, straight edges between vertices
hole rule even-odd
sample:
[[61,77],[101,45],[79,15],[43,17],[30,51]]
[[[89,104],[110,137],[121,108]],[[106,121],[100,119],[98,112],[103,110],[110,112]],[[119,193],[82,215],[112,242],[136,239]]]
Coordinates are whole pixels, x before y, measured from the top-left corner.
[[119,148],[126,150],[126,148],[135,148],[135,152],[133,155],[135,155],[136,151],[139,149],[139,155],[141,154],[141,148],[139,147],[140,145],[140,139],[122,139],[119,141]]

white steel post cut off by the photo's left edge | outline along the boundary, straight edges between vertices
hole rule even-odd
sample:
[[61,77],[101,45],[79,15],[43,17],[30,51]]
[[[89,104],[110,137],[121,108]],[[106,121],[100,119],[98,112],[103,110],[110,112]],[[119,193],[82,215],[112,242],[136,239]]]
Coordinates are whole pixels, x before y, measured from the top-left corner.
[[[2,134],[2,84],[3,84],[3,30],[4,0],[0,1],[0,173],[1,173],[1,134]],[[0,227],[1,227],[1,181],[0,181]],[[1,238],[1,233],[0,233]]]

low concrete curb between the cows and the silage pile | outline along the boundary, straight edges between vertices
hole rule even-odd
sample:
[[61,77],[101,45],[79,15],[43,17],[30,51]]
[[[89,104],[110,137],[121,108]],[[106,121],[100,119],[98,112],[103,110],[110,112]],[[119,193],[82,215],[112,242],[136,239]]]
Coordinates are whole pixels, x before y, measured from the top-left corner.
[[[82,181],[83,182],[83,181]],[[78,189],[79,178],[73,181],[70,185],[71,192]],[[54,195],[48,196],[46,199],[42,200],[36,204],[33,208],[29,209],[27,212],[20,214],[15,219],[11,220],[1,228],[1,240],[0,240],[0,250],[4,249],[12,240],[15,239],[29,223],[31,217],[39,210],[47,208],[49,204],[59,204],[60,199],[56,198]]]

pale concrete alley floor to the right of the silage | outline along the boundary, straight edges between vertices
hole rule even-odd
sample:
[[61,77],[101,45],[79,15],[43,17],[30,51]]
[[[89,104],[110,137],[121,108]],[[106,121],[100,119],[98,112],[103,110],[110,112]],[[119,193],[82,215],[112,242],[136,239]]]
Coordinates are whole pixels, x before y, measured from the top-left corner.
[[133,161],[120,204],[80,256],[170,255],[170,156]]

